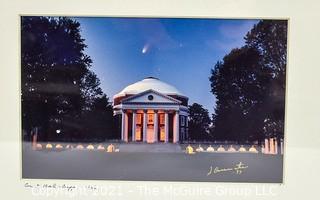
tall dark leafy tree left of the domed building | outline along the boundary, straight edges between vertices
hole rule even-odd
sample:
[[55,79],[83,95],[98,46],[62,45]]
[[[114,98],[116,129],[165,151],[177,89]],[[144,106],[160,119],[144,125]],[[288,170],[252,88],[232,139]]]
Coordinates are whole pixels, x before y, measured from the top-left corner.
[[44,141],[83,139],[84,110],[91,110],[103,94],[84,53],[80,23],[66,17],[22,17],[21,29],[23,130],[40,129]]

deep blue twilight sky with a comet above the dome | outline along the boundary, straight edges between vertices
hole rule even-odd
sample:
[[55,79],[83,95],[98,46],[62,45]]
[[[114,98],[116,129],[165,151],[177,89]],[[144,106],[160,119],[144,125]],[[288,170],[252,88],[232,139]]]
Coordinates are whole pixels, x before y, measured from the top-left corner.
[[257,20],[75,18],[101,88],[112,96],[147,76],[172,84],[214,112],[210,70]]

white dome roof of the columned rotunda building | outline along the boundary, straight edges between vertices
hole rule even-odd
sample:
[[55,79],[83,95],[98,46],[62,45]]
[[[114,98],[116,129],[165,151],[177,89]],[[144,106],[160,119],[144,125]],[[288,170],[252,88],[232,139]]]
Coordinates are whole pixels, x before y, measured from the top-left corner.
[[154,90],[166,95],[185,96],[174,86],[160,81],[158,78],[147,77],[141,81],[128,85],[120,93],[116,94],[114,98],[125,95],[134,95],[146,90]]

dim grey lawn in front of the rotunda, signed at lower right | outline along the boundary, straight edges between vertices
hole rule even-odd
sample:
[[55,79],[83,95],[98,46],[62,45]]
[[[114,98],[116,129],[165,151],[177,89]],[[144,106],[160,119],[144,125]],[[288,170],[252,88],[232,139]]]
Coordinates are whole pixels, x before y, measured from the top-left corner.
[[[241,174],[233,170],[242,163]],[[210,173],[211,168],[222,170]],[[223,171],[223,169],[228,169]],[[283,156],[261,153],[115,152],[32,150],[22,152],[22,178],[132,181],[281,183]]]

